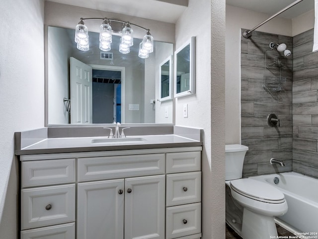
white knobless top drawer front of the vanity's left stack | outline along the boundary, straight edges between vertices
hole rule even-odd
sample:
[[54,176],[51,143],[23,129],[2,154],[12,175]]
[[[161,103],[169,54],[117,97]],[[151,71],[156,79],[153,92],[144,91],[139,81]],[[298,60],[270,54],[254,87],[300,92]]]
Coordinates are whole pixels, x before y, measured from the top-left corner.
[[22,162],[22,188],[74,182],[74,158]]

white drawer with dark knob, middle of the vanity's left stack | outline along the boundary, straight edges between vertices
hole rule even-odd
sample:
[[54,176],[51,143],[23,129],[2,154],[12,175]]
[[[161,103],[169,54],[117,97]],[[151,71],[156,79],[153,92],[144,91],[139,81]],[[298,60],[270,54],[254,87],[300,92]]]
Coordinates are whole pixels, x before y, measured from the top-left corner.
[[21,228],[75,221],[75,184],[21,190]]

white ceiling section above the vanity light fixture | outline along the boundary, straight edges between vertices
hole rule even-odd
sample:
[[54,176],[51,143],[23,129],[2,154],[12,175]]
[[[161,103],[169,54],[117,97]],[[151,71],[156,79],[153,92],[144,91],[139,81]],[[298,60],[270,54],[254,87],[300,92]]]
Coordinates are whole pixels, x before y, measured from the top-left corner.
[[[102,11],[122,13],[175,23],[188,6],[188,0],[50,0]],[[158,10],[161,9],[161,10]],[[164,9],[164,11],[162,11]]]

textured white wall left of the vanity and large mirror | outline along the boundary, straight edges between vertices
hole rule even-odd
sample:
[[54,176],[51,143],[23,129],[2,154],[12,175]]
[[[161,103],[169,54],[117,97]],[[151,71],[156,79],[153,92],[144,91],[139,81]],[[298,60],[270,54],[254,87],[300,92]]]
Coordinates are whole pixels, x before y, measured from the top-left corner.
[[15,131],[44,126],[44,1],[0,4],[0,238],[17,238]]

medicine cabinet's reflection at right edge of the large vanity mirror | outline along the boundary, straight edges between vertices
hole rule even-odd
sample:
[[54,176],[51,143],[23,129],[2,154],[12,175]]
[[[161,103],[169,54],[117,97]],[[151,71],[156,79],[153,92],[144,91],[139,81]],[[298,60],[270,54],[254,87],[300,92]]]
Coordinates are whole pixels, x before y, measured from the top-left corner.
[[159,101],[172,99],[172,55],[159,65]]

